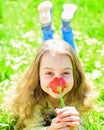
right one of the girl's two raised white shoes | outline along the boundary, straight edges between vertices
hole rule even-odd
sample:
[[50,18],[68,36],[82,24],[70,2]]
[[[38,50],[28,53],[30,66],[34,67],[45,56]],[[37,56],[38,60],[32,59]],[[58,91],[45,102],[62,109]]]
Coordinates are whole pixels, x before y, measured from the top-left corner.
[[64,4],[63,12],[62,12],[62,20],[63,21],[71,21],[75,12],[77,10],[77,6],[73,4]]

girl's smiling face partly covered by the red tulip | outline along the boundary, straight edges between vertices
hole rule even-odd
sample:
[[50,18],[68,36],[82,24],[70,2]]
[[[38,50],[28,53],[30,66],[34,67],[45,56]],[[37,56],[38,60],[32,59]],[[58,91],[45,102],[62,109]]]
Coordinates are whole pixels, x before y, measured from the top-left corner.
[[39,75],[42,90],[53,98],[59,98],[59,94],[52,92],[49,87],[55,77],[63,78],[66,82],[63,96],[73,88],[73,67],[68,55],[45,53],[41,59]]

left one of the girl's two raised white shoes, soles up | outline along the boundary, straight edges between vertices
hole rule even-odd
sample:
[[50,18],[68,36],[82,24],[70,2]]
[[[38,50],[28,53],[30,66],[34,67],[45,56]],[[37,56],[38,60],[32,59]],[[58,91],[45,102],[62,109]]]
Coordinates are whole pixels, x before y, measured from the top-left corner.
[[39,4],[38,6],[40,23],[42,26],[47,26],[51,23],[51,11],[52,11],[52,3],[50,1],[45,1]]

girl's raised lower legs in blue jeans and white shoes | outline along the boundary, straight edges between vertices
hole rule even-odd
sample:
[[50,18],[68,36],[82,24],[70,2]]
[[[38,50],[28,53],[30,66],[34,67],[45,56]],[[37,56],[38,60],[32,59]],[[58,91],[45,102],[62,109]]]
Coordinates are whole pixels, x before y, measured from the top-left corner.
[[[70,22],[76,12],[77,7],[73,4],[64,4],[62,11],[62,38],[71,45],[75,52],[77,52],[76,44]],[[52,25],[52,3],[50,1],[41,2],[38,6],[40,23],[42,25],[43,40],[53,39],[53,25]]]

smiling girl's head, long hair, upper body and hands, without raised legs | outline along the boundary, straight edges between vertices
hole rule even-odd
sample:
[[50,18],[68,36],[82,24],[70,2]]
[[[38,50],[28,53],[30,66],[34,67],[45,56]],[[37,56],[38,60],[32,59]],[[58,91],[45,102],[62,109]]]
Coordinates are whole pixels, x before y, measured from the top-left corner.
[[[62,93],[52,91],[54,78],[63,78]],[[18,84],[10,110],[17,117],[15,129],[82,130],[82,114],[92,107],[88,84],[81,62],[67,42],[50,39],[41,45],[32,64]]]

